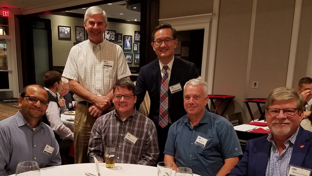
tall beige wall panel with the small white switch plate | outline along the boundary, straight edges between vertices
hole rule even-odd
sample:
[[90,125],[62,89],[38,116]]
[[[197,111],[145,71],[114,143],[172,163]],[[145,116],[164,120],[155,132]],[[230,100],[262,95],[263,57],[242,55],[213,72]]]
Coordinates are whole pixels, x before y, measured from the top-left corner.
[[[295,0],[257,1],[248,98],[285,86]],[[251,89],[259,81],[259,89]]]

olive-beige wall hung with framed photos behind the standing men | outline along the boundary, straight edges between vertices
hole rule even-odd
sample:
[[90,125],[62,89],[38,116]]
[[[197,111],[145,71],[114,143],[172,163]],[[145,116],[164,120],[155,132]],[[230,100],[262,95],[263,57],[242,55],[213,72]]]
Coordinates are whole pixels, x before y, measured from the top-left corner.
[[[53,66],[65,66],[71,47],[73,47],[74,42],[76,42],[75,26],[83,26],[83,18],[66,17],[60,15],[42,15],[40,18],[51,20]],[[71,27],[71,40],[58,39],[57,26],[59,25]],[[134,31],[140,30],[139,25],[108,22],[107,29],[115,30],[116,33],[122,33],[123,35],[132,35],[132,50],[126,51],[125,53],[133,53]],[[123,45],[122,42],[116,42],[116,44]],[[129,67],[139,66],[134,65],[134,54],[132,58],[132,65],[129,64]]]

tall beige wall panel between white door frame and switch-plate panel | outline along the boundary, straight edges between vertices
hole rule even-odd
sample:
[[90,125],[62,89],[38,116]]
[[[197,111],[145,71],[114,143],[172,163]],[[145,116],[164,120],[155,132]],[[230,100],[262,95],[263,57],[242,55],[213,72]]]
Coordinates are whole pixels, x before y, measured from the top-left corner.
[[250,0],[221,1],[213,94],[236,96],[227,114],[244,106],[251,13]]

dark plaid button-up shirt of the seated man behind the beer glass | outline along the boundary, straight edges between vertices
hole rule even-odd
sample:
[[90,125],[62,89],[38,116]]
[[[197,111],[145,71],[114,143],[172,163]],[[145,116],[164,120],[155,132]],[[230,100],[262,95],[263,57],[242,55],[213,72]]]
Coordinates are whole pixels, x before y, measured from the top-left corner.
[[[124,139],[128,132],[138,138],[135,144]],[[105,145],[110,144],[116,145],[116,163],[154,165],[159,154],[153,121],[136,110],[125,121],[120,120],[115,110],[95,121],[88,148],[90,162],[94,162],[94,156],[105,161]]]

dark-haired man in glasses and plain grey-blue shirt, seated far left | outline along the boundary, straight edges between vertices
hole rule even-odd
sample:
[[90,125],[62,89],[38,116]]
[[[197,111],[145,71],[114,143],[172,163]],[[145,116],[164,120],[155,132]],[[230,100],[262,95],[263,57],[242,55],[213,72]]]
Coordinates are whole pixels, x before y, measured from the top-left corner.
[[46,90],[26,86],[18,105],[21,109],[14,116],[0,121],[0,175],[15,174],[23,161],[36,161],[40,168],[61,165],[53,131],[40,120],[48,107]]

